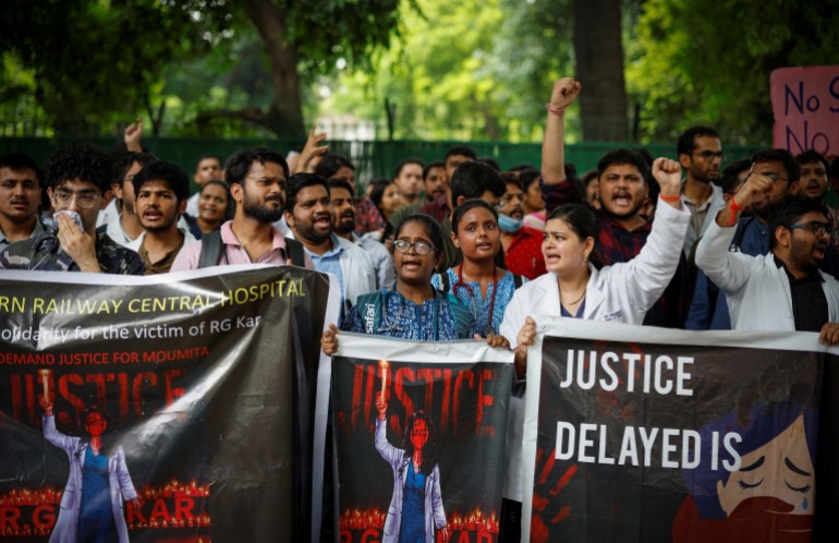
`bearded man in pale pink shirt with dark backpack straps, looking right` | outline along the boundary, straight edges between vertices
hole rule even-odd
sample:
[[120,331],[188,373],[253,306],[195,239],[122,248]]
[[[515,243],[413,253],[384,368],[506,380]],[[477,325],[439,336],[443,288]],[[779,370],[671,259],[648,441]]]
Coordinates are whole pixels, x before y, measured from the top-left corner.
[[[224,179],[236,205],[228,220],[200,241],[184,246],[172,272],[216,264],[293,264],[313,268],[300,243],[283,238],[273,222],[282,216],[289,165],[279,153],[256,148],[236,153],[228,160]],[[296,249],[295,249],[296,248]]]

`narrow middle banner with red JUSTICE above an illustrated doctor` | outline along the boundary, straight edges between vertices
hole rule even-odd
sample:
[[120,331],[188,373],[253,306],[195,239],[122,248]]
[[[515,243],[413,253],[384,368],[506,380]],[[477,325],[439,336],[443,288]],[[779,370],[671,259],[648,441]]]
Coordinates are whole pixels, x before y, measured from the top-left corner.
[[512,353],[338,337],[339,541],[498,541]]

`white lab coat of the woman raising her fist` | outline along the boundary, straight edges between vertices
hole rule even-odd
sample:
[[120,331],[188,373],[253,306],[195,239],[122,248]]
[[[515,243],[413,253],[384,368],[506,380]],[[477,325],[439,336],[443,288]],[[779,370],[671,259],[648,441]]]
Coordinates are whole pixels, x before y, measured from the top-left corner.
[[[586,321],[612,321],[642,324],[647,310],[661,297],[670,283],[682,251],[682,242],[691,220],[688,209],[674,209],[659,200],[653,229],[637,256],[630,262],[606,266],[592,272],[585,289]],[[500,333],[519,345],[519,330],[528,315],[561,314],[559,282],[548,273],[522,286],[504,311]],[[507,426],[507,467],[503,496],[522,500],[522,432],[524,426],[524,398],[512,397]]]

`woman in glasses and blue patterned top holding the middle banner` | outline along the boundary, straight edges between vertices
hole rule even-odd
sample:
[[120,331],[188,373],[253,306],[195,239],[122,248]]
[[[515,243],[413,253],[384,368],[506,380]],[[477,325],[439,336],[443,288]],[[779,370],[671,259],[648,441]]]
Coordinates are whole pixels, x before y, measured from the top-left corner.
[[[358,297],[342,328],[377,336],[420,341],[447,341],[473,337],[472,312],[451,294],[431,286],[436,266],[442,262],[442,232],[428,215],[405,217],[393,233],[396,282],[377,292]],[[323,349],[331,355],[338,349],[338,329],[324,333]],[[507,346],[491,334],[487,342]]]

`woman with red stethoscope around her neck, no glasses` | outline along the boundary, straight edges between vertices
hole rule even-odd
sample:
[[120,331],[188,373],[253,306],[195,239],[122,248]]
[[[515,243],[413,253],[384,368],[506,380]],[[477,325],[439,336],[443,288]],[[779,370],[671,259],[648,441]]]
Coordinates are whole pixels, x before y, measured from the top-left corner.
[[454,209],[451,226],[451,239],[463,253],[463,262],[435,275],[431,285],[470,307],[473,335],[498,334],[507,304],[524,282],[495,264],[501,251],[498,212],[483,200],[467,200]]

